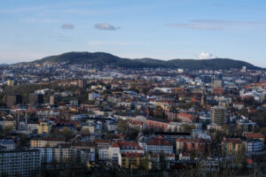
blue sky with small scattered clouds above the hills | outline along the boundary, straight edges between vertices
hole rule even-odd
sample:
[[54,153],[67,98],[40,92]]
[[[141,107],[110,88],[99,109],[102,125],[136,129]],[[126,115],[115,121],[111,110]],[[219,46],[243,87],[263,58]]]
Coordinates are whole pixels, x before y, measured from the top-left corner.
[[265,0],[0,0],[0,64],[68,51],[266,67]]

